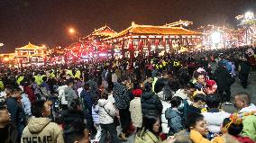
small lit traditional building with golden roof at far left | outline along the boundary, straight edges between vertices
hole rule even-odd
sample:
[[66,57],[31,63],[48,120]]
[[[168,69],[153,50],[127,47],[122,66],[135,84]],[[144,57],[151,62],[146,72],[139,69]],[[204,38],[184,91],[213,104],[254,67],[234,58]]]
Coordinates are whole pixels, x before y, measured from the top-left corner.
[[41,66],[45,64],[45,58],[48,56],[46,47],[36,46],[29,42],[28,45],[15,49],[14,59],[17,60],[19,67]]

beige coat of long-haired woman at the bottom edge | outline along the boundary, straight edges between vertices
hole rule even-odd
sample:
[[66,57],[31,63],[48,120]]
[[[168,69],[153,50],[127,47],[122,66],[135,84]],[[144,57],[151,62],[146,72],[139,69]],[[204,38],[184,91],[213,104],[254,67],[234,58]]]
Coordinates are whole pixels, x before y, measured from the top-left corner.
[[135,143],[166,143],[166,140],[162,141],[150,130],[142,130],[136,134]]

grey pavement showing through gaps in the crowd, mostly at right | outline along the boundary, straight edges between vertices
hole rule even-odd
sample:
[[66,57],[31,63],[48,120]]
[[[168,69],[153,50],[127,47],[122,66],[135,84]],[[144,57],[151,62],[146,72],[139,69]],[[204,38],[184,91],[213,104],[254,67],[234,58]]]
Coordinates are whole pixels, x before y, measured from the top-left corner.
[[[256,72],[251,72],[249,76],[249,85],[246,89],[242,88],[240,85],[238,78],[236,78],[235,83],[231,86],[231,94],[232,94],[232,103],[233,103],[233,96],[239,92],[244,92],[251,94],[251,102],[256,103]],[[233,105],[224,105],[224,111],[226,112],[236,112],[236,109]],[[120,132],[120,128],[118,133]],[[135,136],[131,136],[128,141],[125,143],[133,143]],[[124,143],[124,142],[123,142]]]

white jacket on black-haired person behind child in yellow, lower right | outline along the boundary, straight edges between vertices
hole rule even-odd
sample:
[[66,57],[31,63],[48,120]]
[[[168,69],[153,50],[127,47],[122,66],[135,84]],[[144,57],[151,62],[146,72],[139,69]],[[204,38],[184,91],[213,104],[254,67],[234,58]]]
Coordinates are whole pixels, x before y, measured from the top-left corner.
[[228,112],[202,112],[208,124],[208,130],[212,133],[221,131],[221,126],[225,118],[229,118]]

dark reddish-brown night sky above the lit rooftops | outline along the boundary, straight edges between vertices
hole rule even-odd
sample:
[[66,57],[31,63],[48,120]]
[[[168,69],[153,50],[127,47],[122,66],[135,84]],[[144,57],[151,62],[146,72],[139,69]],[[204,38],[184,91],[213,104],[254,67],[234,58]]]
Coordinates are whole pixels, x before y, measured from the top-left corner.
[[69,26],[87,35],[105,23],[115,31],[131,25],[163,25],[179,19],[195,26],[235,25],[234,16],[256,11],[256,0],[0,0],[0,49],[31,41],[50,47],[67,43]]

